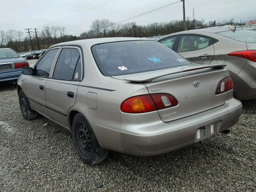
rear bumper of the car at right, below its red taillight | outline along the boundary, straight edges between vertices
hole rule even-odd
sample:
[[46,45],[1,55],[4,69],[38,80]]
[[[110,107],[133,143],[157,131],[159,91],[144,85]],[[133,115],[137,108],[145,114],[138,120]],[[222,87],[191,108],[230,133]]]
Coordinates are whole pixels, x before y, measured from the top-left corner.
[[256,99],[256,62],[248,61],[233,82],[234,92],[238,99]]

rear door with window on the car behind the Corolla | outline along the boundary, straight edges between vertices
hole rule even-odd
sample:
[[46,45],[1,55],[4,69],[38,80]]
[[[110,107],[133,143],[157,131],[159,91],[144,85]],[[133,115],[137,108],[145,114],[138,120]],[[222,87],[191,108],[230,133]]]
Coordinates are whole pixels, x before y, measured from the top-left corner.
[[201,35],[181,35],[176,52],[193,63],[208,64],[214,57],[212,38]]

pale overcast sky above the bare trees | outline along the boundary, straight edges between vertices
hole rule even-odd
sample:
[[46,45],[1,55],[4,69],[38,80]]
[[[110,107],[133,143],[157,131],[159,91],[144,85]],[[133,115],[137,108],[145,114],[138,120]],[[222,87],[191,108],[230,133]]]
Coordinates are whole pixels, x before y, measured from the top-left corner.
[[[107,18],[118,22],[165,6],[177,0],[1,0],[0,30],[21,30],[44,25],[64,26],[67,34],[90,29],[93,20]],[[102,4],[101,6],[98,6]],[[93,8],[97,6],[96,8]],[[186,17],[192,19],[256,20],[256,0],[185,0]],[[91,10],[88,10],[93,8]],[[88,10],[88,11],[86,11]],[[72,17],[70,17],[72,16]],[[69,17],[69,18],[68,18]],[[181,20],[182,2],[167,6],[126,22],[147,25],[152,22]],[[78,34],[79,35],[79,34]]]

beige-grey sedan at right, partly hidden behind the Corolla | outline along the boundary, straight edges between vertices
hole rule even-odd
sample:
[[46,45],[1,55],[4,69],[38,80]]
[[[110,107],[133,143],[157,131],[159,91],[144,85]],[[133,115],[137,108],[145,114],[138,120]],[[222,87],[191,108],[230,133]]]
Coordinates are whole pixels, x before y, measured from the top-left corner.
[[205,28],[178,32],[158,40],[198,64],[226,64],[240,100],[256,99],[256,33]]

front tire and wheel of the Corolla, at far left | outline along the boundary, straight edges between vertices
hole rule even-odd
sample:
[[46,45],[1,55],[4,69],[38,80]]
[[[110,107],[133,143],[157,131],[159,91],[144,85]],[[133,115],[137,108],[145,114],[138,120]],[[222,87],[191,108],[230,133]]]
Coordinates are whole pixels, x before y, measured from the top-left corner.
[[31,109],[28,99],[22,90],[19,92],[19,103],[22,116],[26,120],[31,120],[37,117],[38,113]]

